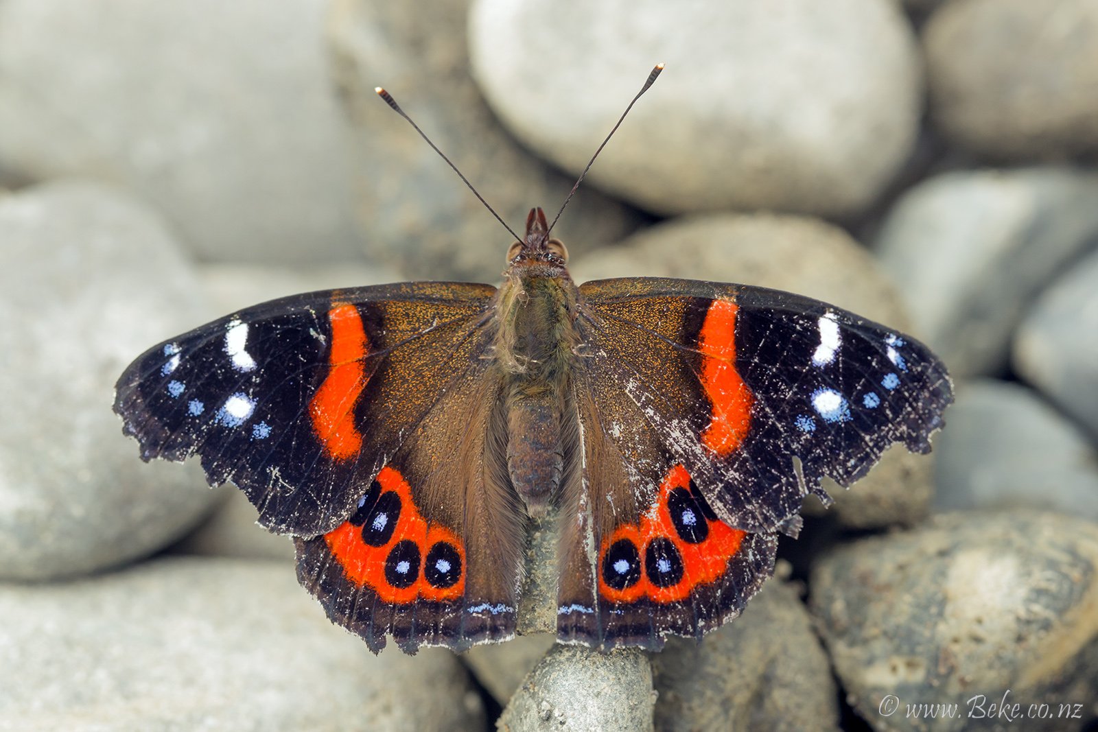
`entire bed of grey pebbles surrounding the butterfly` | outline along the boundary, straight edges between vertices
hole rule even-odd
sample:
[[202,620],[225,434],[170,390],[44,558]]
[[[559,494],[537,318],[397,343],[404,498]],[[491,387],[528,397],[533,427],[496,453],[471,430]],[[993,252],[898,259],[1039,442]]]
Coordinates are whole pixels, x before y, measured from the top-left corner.
[[[137,459],[114,380],[261,300],[496,281],[374,86],[517,228],[657,61],[556,229],[575,279],[895,325],[948,427],[701,645],[373,657],[235,489]],[[1098,0],[0,0],[0,730],[1096,729],[1096,164]]]

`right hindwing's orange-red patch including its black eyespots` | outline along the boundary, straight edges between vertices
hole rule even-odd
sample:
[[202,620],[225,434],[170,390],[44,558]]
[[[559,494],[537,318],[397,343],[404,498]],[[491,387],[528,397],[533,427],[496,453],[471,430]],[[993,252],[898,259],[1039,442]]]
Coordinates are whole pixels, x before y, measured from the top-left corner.
[[673,603],[728,571],[747,532],[717,518],[682,465],[668,471],[640,523],[618,527],[598,552],[598,594],[610,603]]

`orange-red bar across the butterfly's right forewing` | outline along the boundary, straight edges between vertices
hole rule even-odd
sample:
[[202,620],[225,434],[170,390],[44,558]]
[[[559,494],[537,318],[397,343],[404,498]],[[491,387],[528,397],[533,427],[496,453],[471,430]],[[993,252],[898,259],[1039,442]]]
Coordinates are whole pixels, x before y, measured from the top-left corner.
[[697,337],[702,353],[702,387],[709,397],[709,426],[702,444],[727,458],[736,451],[751,428],[754,395],[736,370],[736,314],[728,300],[715,300],[705,315]]

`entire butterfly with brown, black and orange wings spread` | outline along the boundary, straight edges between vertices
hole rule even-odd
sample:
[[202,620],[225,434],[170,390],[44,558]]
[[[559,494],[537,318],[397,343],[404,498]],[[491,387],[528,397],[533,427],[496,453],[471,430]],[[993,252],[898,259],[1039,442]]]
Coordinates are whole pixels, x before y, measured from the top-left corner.
[[[654,75],[653,77],[654,78]],[[647,88],[647,87],[646,87]],[[373,651],[513,637],[530,518],[554,515],[557,635],[659,649],[736,617],[795,534],[952,385],[909,336],[785,292],[576,286],[540,209],[498,289],[411,282],[256,305],[154,346],[114,409],[198,455]]]

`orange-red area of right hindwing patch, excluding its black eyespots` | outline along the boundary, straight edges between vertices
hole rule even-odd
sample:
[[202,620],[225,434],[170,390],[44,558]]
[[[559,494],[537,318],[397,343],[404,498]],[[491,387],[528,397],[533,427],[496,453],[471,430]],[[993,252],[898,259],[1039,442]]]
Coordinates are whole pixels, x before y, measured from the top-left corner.
[[[674,522],[671,520],[668,497],[674,488],[688,489],[688,486],[690,473],[682,465],[675,465],[668,471],[666,477],[663,478],[660,494],[652,510],[641,516],[640,526],[618,527],[614,533],[603,540],[598,552],[597,568],[598,594],[604,599],[610,603],[635,603],[642,597],[656,603],[683,600],[690,597],[695,587],[716,582],[728,571],[728,561],[740,550],[740,543],[747,532],[733,529],[719,519],[710,520],[698,516],[697,520],[708,522],[709,532],[705,541],[696,544],[682,541],[675,531]],[[682,579],[674,585],[659,587],[648,578],[642,564],[640,579],[637,583],[624,589],[610,587],[603,578],[603,559],[610,545],[621,539],[634,543],[642,563],[646,561],[646,549],[652,540],[669,539],[682,558]]]

